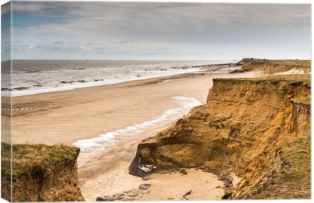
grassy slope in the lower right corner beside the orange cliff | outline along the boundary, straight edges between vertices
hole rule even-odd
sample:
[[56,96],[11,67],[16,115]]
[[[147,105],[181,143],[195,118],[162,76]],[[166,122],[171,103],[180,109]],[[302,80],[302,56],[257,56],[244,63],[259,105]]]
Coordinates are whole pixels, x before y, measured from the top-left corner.
[[288,143],[281,153],[283,167],[266,190],[253,198],[310,198],[310,136]]

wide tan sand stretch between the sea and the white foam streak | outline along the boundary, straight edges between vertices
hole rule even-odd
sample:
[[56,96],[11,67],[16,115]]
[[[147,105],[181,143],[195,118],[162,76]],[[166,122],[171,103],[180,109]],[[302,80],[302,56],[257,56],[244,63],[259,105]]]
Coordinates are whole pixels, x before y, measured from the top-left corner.
[[[246,77],[254,74],[253,72],[247,74],[215,72],[204,76],[183,74],[13,97],[13,109],[15,109],[13,143],[72,144],[80,139],[93,138],[98,134],[158,116],[161,112],[175,107],[174,104],[169,103],[169,99],[173,96],[193,97],[204,104],[212,78]],[[188,78],[184,80],[174,80],[186,77]],[[159,83],[168,79],[171,79],[171,82]],[[197,84],[197,81],[202,85]],[[182,86],[186,89],[182,89]],[[155,94],[156,91],[159,93]],[[147,92],[149,98],[143,98],[140,92]],[[3,114],[6,111],[10,112],[8,109],[2,109]],[[124,112],[125,115],[119,112]],[[142,115],[141,118],[136,116],[138,113]],[[113,117],[110,118],[112,115]],[[125,119],[125,116],[129,118]],[[82,124],[86,126],[83,129]],[[74,126],[82,130],[73,129]],[[87,127],[90,129],[86,129]],[[67,136],[64,137],[63,134]]]

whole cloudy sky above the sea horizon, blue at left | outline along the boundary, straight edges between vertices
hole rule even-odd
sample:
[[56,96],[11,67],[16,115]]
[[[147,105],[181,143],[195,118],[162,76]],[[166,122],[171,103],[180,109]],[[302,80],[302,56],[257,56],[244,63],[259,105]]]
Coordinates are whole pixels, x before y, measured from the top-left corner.
[[13,59],[310,58],[310,5],[23,1],[12,8]]

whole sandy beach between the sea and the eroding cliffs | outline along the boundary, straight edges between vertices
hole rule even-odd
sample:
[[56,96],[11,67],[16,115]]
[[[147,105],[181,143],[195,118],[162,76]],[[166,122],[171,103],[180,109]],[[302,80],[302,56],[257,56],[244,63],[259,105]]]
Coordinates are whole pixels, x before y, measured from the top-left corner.
[[[13,97],[13,143],[72,145],[81,139],[98,137],[108,131],[124,129],[161,116],[163,112],[178,107],[178,103],[173,102],[175,97],[193,98],[200,105],[205,104],[213,78],[257,77],[259,74],[210,71],[204,75],[183,74]],[[78,176],[85,200],[93,201],[98,196],[138,189],[143,183],[152,185],[147,189],[148,192],[133,197],[127,195],[126,200],[180,199],[186,188],[198,188],[193,189],[198,193],[193,192],[189,199],[201,199],[198,194],[203,194],[205,190],[208,192],[206,188],[209,185],[215,187],[206,199],[221,198],[223,183],[211,173],[207,173],[211,178],[203,179],[211,180],[208,185],[193,178],[199,173],[205,173],[202,171],[187,170],[187,175],[180,175],[180,181],[184,184],[162,181],[165,178],[176,180],[178,173],[154,174],[149,177],[151,180],[145,181],[129,175],[128,167],[136,153],[137,144],[167,128],[174,121],[173,118],[175,117],[164,119],[133,135],[115,137],[110,142],[103,143],[105,149],[101,151],[82,150],[78,157]],[[169,193],[166,192],[169,191],[167,187],[171,187],[169,184],[179,184],[184,188]]]

